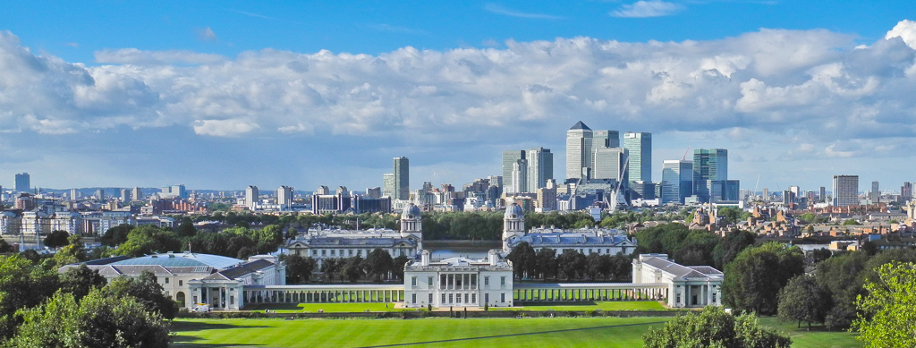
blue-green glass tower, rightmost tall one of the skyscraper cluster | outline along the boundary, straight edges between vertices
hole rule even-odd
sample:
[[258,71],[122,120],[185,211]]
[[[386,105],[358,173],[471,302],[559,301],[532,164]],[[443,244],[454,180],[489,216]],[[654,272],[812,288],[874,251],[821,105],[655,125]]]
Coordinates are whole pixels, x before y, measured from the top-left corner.
[[[630,167],[632,167],[632,160]],[[701,202],[714,202],[721,197],[728,179],[728,150],[697,148],[693,150],[693,194]],[[718,183],[707,181],[719,181]]]

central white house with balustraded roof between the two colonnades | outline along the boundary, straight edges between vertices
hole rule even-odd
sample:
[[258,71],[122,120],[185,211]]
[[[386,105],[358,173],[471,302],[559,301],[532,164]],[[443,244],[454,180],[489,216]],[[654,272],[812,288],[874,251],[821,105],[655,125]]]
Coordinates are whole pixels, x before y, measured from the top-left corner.
[[512,307],[512,262],[491,250],[488,257],[431,261],[424,250],[420,260],[404,267],[404,307]]

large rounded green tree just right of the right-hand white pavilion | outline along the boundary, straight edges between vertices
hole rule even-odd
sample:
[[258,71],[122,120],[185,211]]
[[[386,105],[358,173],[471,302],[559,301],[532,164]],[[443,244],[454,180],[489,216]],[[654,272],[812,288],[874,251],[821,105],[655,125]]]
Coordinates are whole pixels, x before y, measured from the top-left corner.
[[770,242],[749,247],[725,266],[725,303],[737,310],[774,314],[780,289],[804,272],[804,256],[796,246]]

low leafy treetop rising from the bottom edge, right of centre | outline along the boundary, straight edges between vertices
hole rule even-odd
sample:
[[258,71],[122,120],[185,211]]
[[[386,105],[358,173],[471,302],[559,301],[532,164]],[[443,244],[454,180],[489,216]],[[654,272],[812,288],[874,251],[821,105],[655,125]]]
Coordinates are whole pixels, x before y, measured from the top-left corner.
[[761,327],[753,314],[734,317],[714,306],[699,314],[678,316],[661,329],[649,328],[642,339],[647,348],[781,348],[791,344],[789,336]]

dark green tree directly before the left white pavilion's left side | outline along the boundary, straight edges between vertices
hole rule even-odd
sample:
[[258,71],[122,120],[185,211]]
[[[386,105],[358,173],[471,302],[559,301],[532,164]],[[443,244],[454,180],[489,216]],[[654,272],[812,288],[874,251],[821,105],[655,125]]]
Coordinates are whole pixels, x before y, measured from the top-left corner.
[[156,275],[143,271],[140,277],[119,277],[113,279],[103,288],[106,296],[124,297],[132,296],[147,310],[157,312],[163,318],[175,318],[178,313],[178,304],[163,294],[162,285],[157,281]]

